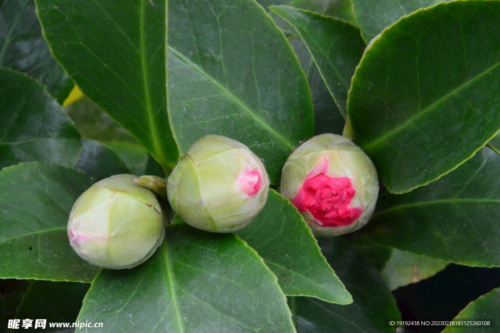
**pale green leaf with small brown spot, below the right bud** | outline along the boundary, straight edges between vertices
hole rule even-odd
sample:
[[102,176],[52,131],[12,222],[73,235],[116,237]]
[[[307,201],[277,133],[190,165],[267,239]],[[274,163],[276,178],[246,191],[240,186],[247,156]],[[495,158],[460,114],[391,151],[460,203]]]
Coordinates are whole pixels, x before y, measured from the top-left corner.
[[420,254],[393,249],[385,268],[380,272],[390,290],[416,283],[443,270],[449,262]]

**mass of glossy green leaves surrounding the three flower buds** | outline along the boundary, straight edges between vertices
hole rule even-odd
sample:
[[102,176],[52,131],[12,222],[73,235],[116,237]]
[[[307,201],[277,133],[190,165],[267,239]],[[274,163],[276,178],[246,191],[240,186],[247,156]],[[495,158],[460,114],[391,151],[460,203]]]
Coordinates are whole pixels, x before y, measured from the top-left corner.
[[[0,332],[13,317],[103,322],[92,332],[393,332],[391,290],[450,262],[500,266],[499,1],[0,5],[0,278],[19,280],[4,280]],[[73,82],[86,97],[64,109]],[[204,135],[247,145],[278,188],[300,141],[342,132],[383,184],[347,237],[316,242],[270,190],[236,234],[175,218],[133,269],[99,269],[68,244],[93,182],[165,177]],[[498,323],[499,302],[491,290],[458,317]]]

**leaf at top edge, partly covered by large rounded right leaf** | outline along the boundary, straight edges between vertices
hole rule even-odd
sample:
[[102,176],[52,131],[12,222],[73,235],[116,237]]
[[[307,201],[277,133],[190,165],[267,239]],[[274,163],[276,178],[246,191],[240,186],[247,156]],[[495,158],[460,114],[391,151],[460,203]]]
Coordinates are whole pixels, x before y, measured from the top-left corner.
[[352,11],[366,43],[403,16],[443,0],[351,0]]

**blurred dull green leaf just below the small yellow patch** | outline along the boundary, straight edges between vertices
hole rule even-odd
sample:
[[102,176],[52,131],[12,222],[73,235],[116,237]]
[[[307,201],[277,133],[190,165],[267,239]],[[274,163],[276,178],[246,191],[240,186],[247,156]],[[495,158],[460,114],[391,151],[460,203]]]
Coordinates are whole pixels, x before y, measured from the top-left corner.
[[123,127],[102,111],[88,97],[83,96],[64,108],[73,120],[74,127],[85,139],[109,142],[111,140],[126,141],[137,144]]

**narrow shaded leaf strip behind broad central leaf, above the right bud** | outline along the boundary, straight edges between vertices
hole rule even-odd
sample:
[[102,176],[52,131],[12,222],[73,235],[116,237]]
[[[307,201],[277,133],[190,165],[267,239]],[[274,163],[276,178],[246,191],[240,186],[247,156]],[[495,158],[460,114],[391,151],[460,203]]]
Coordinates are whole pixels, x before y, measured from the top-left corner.
[[[276,25],[283,31],[294,30],[286,21],[274,13],[270,13]],[[291,33],[290,33],[291,34]],[[307,46],[299,37],[293,35],[288,43],[300,62],[300,66],[307,77],[314,109],[314,135],[322,133],[342,134],[345,120],[338,110],[335,101],[331,97],[323,78],[319,74],[314,61],[311,58]]]

